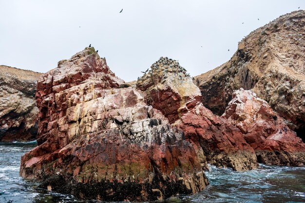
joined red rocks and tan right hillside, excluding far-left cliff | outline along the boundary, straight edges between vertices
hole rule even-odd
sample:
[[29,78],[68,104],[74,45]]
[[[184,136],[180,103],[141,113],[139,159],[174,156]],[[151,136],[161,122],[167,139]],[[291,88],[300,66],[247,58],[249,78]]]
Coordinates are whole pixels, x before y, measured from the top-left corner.
[[20,175],[78,199],[153,201],[203,190],[209,164],[305,166],[304,24],[281,16],[194,78],[161,57],[125,83],[93,47],[59,61],[38,79]]

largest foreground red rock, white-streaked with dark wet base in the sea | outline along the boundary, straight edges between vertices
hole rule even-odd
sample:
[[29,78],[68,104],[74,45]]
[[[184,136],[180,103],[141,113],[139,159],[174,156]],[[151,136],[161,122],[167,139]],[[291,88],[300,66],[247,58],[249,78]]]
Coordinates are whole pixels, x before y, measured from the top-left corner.
[[20,175],[80,199],[146,201],[208,184],[183,131],[117,78],[94,48],[44,74],[37,85],[38,147]]

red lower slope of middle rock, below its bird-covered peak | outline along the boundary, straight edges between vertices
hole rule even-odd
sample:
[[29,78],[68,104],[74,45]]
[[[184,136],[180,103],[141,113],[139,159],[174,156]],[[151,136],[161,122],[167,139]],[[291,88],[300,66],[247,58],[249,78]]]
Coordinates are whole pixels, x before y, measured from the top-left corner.
[[202,104],[174,123],[197,146],[201,163],[243,171],[257,167],[257,160],[239,129],[214,115]]

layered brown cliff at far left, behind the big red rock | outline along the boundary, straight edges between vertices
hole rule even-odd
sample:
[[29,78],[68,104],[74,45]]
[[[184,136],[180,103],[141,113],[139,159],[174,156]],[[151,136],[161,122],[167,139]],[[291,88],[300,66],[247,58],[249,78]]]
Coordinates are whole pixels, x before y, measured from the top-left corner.
[[0,142],[37,137],[36,83],[41,74],[0,66]]

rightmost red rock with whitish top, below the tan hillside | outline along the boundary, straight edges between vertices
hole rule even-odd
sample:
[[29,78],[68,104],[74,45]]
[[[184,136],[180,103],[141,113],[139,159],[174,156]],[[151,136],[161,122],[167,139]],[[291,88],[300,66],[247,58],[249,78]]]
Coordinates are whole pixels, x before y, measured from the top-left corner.
[[288,128],[284,119],[268,103],[250,90],[237,90],[222,115],[244,133],[265,164],[304,166],[305,143]]

